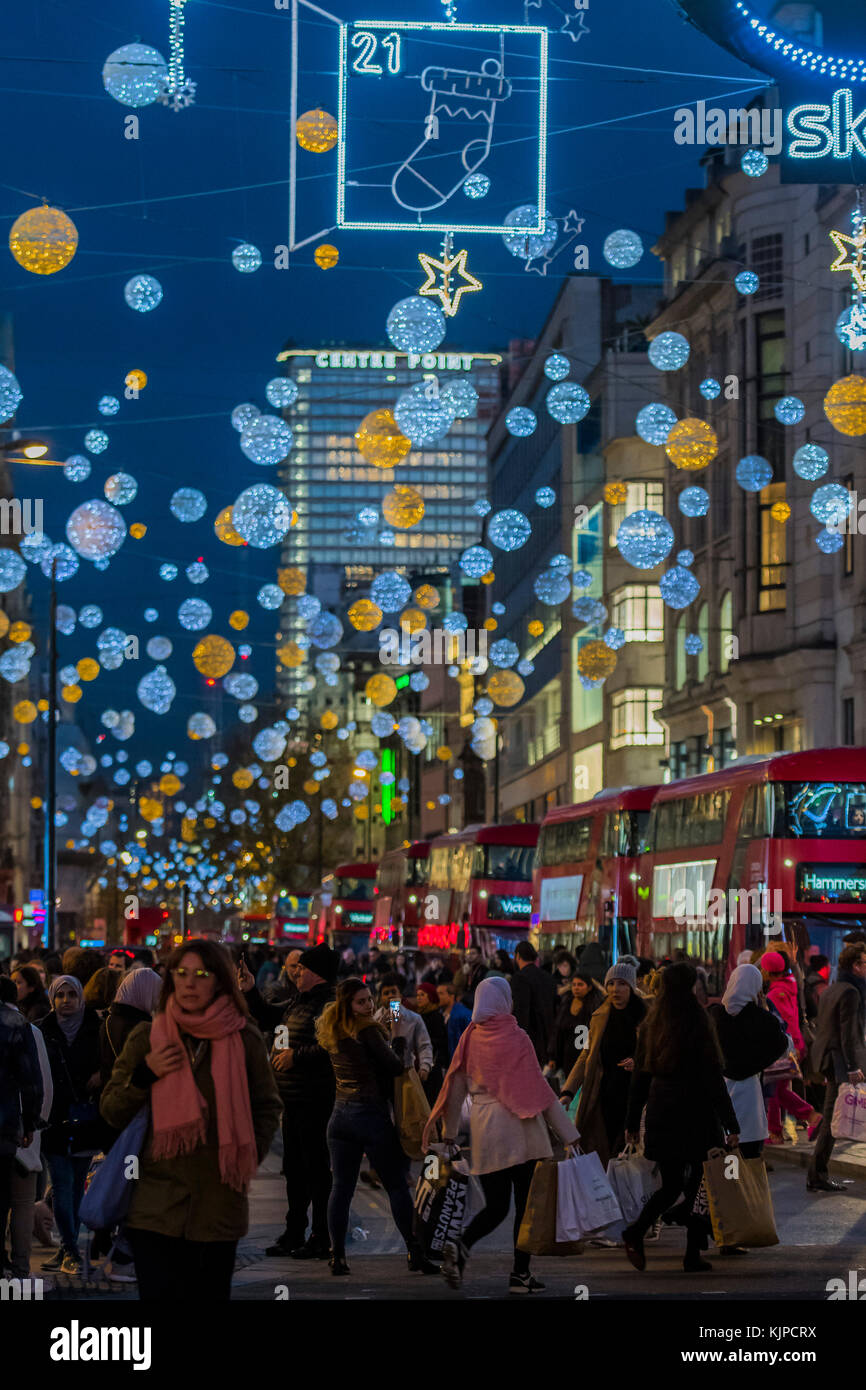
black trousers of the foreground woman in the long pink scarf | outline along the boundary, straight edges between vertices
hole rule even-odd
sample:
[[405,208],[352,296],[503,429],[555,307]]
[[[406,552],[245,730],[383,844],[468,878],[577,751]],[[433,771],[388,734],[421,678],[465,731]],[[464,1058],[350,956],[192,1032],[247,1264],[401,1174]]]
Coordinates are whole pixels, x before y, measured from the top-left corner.
[[140,1302],[228,1302],[236,1240],[183,1240],[125,1227]]

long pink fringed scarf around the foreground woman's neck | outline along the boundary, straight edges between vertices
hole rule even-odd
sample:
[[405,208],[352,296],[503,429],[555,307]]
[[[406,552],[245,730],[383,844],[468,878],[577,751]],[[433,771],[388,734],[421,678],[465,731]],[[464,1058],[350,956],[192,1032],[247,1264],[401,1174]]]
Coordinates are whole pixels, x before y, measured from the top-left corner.
[[174,1042],[183,1051],[183,1066],[153,1083],[153,1156],[175,1158],[190,1154],[207,1136],[207,1105],[192,1074],[189,1052],[181,1031],[210,1044],[210,1074],[217,1101],[220,1177],[243,1193],[256,1173],[256,1134],[250,1109],[246,1061],[240,1031],[246,1020],[228,995],[221,995],[203,1013],[186,1013],[174,995],[150,1029],[156,1049]]

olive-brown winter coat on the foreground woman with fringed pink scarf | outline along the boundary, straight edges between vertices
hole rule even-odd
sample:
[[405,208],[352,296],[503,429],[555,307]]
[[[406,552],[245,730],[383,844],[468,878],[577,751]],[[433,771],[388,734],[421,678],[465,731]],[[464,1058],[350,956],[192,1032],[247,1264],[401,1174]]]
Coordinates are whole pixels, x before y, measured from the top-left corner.
[[[147,1022],[139,1023],[132,1030],[103,1091],[101,1113],[114,1129],[125,1129],[150,1098],[150,1087],[156,1081],[156,1076],[145,1062],[150,1052],[150,1027]],[[279,1123],[279,1095],[264,1040],[254,1023],[246,1023],[240,1041],[253,1112],[256,1154],[261,1162]],[[239,1240],[247,1232],[246,1194],[228,1187],[220,1177],[210,1055],[211,1048],[207,1041],[197,1058],[192,1054],[193,1077],[207,1106],[204,1144],[199,1144],[190,1154],[154,1159],[153,1131],[152,1126],[147,1126],[139,1159],[139,1180],[126,1216],[126,1225],[133,1230],[152,1230],[158,1236],[195,1241]]]

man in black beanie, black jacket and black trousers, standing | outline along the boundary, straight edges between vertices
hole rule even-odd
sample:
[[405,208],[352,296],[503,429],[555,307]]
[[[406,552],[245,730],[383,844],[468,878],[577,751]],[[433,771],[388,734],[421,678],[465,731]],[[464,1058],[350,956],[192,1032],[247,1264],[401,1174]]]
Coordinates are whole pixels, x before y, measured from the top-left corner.
[[[297,995],[288,1004],[265,1004],[253,976],[238,966],[238,984],[249,1011],[267,1033],[274,1033],[271,1062],[282,1099],[282,1170],[286,1180],[286,1225],[265,1255],[327,1259],[331,1161],[327,1129],[334,1109],[331,1058],[316,1040],[316,1020],[334,999],[339,956],[329,947],[304,951],[299,962]],[[310,1237],[307,1211],[313,1208]]]

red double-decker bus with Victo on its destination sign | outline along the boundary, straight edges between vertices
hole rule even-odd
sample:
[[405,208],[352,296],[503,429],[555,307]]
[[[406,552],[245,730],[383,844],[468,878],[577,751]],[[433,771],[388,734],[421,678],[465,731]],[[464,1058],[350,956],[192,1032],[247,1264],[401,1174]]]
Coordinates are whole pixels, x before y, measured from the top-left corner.
[[538,826],[468,826],[430,845],[418,947],[477,945],[489,958],[530,930]]

